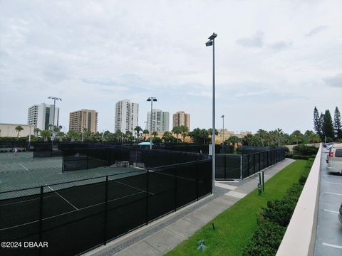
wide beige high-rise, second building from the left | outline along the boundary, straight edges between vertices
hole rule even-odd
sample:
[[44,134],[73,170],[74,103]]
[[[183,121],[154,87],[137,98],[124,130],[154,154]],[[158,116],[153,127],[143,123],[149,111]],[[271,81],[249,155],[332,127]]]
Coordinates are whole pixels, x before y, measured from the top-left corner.
[[69,115],[69,131],[82,132],[86,128],[90,132],[98,131],[98,112],[95,110],[78,110]]

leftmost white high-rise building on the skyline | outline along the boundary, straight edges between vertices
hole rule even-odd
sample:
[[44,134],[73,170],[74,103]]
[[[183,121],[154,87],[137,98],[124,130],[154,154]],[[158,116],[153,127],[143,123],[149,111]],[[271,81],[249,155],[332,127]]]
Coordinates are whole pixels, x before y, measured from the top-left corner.
[[[47,130],[48,125],[53,125],[53,105],[47,105],[41,103],[41,105],[33,105],[28,108],[27,112],[27,124],[34,125],[38,129]],[[55,122],[54,124],[58,127],[59,120],[59,107],[56,107]]]

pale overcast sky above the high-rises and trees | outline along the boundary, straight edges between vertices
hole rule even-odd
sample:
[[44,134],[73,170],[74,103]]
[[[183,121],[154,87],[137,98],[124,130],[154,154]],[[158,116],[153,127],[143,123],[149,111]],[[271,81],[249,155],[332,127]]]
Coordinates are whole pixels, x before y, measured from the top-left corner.
[[115,102],[150,102],[212,126],[212,47],[217,33],[216,127],[313,129],[342,111],[342,1],[0,0],[0,123],[27,123],[28,107],[61,97],[69,112],[98,111],[114,130]]

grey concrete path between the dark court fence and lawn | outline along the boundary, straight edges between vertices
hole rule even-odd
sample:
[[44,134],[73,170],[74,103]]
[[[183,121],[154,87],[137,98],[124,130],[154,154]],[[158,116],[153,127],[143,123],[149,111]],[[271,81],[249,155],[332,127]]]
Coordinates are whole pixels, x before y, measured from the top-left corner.
[[[264,170],[265,181],[284,169],[294,160],[285,159]],[[254,191],[259,176],[254,175],[243,181],[215,183],[213,194],[192,203],[185,208],[170,213],[147,226],[139,228],[121,238],[108,242],[85,255],[101,256],[160,256],[187,240],[219,213],[227,210],[248,193]],[[267,188],[266,188],[267,189]],[[137,213],[138,214],[138,213]]]

